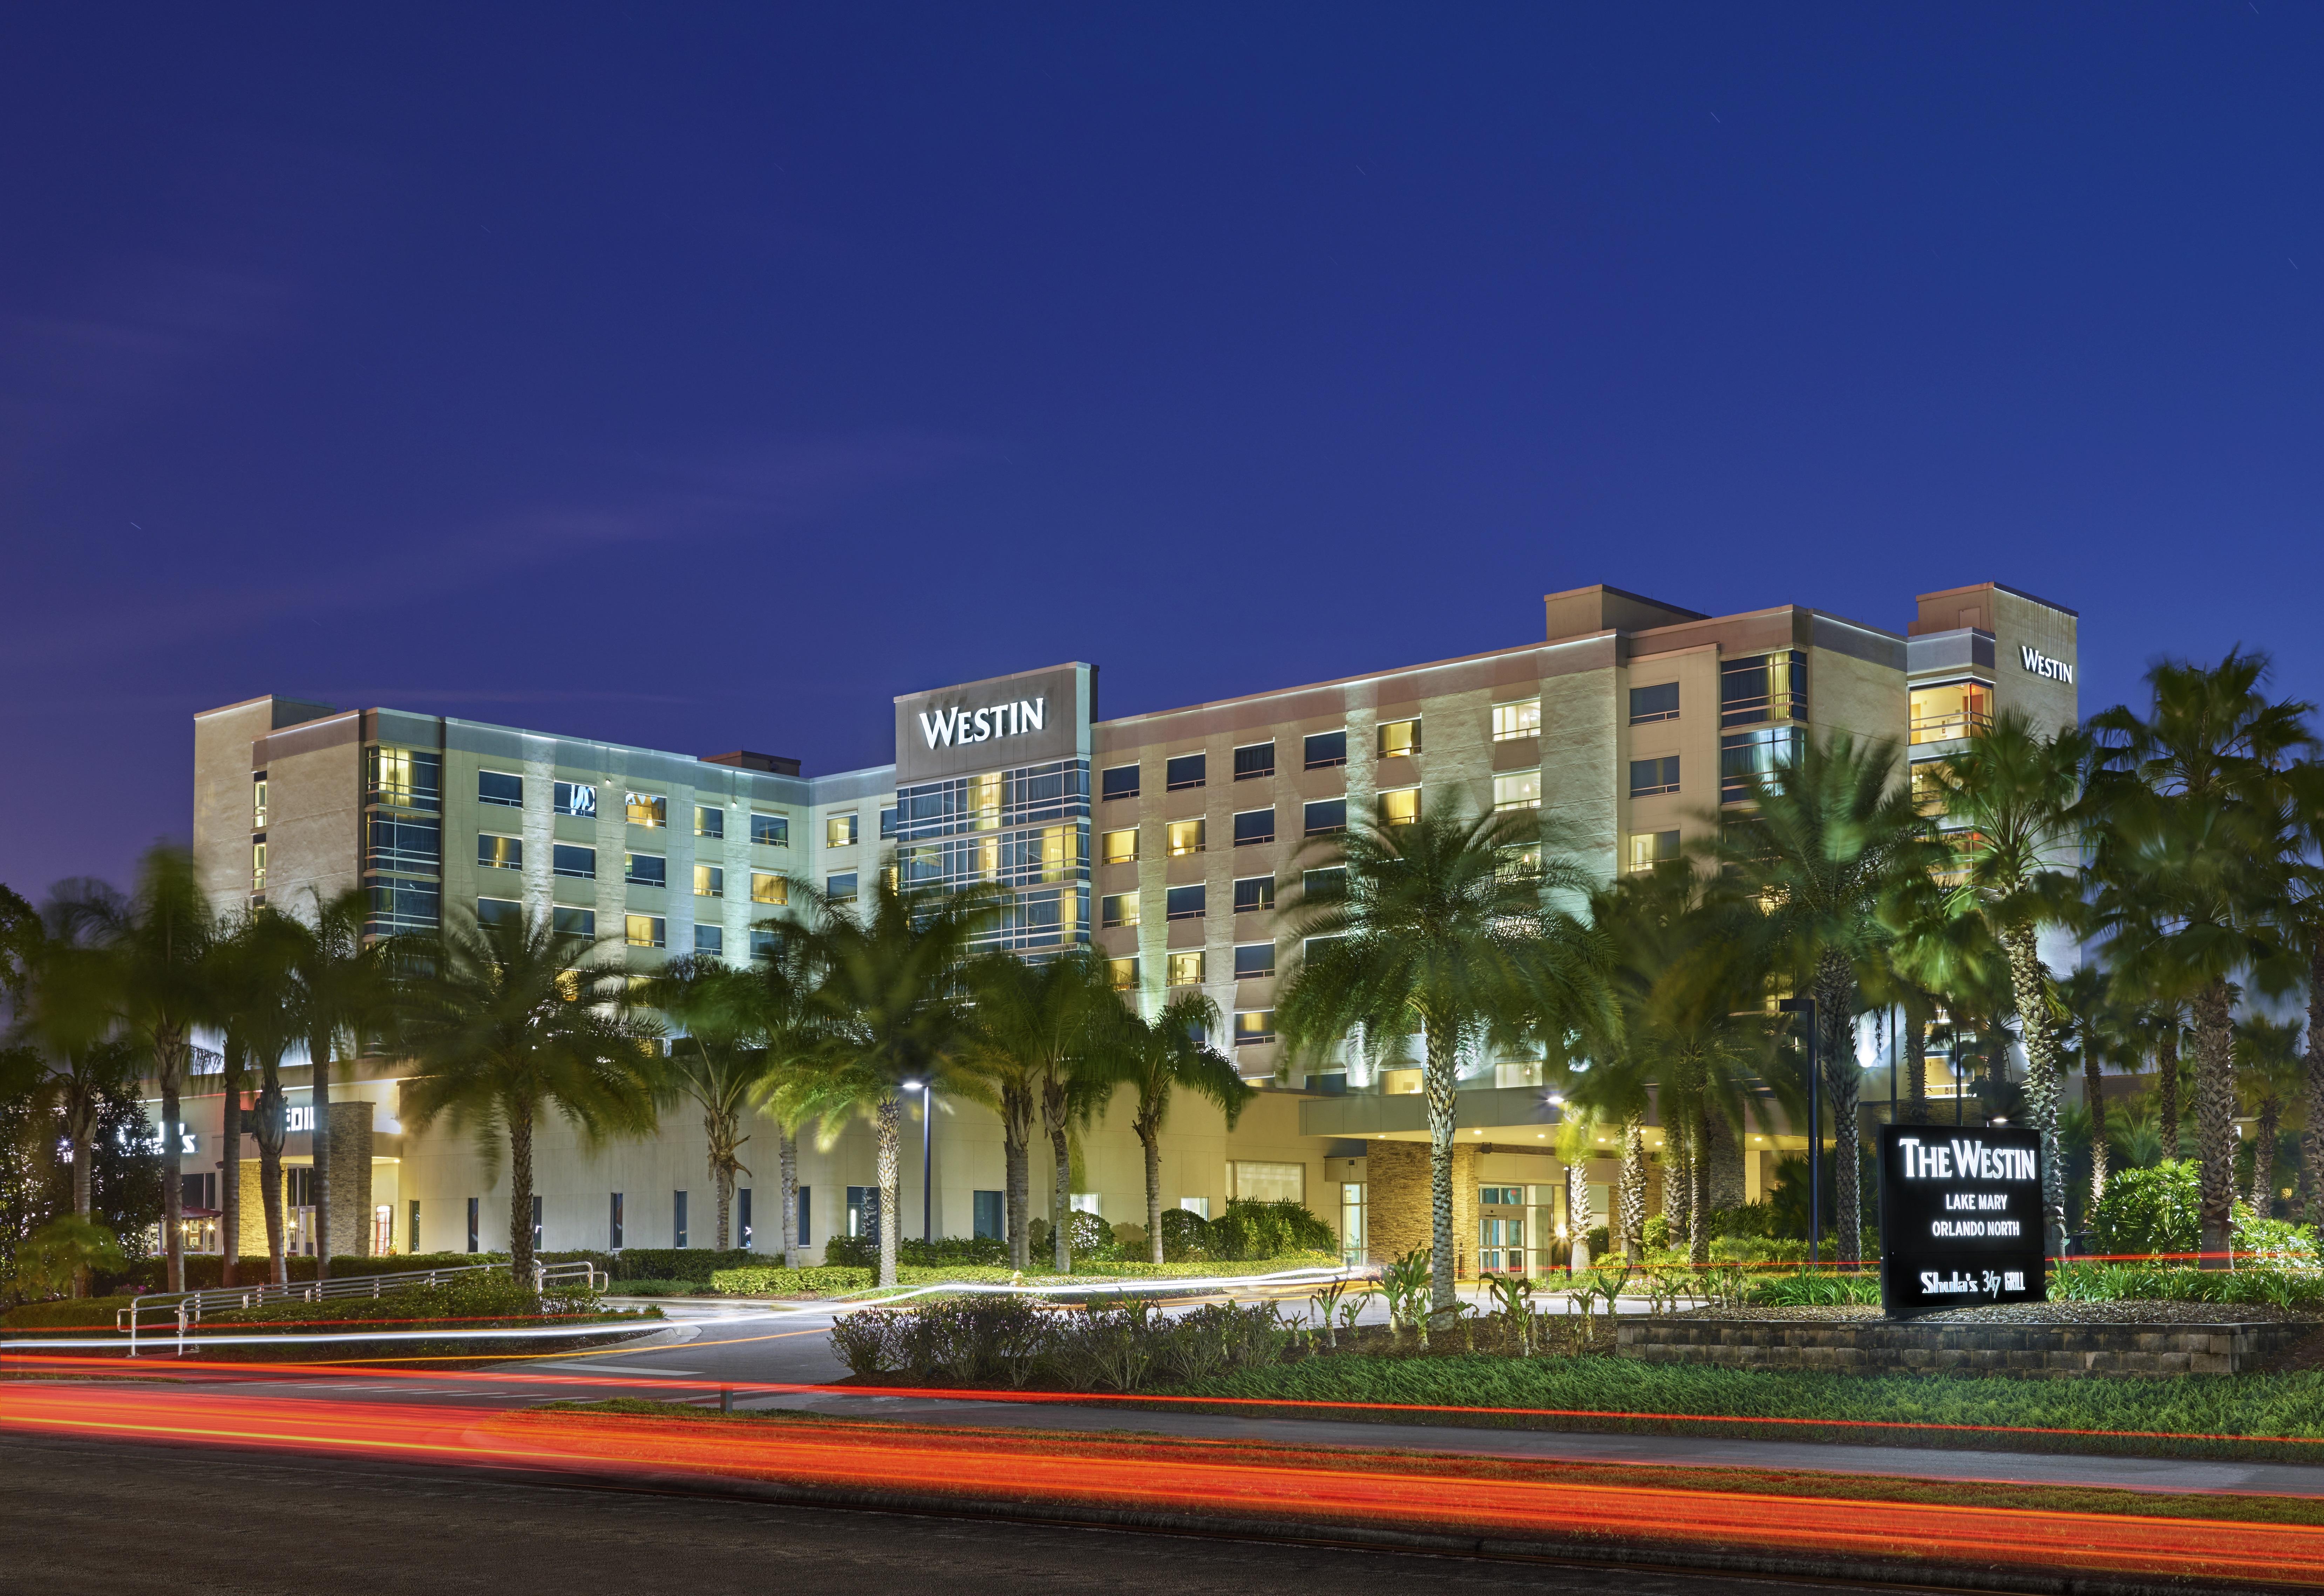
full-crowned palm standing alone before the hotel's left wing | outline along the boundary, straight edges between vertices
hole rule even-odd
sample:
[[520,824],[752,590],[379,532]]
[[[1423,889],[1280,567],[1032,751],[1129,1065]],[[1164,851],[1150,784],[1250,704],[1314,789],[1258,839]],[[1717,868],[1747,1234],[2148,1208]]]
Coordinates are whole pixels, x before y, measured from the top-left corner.
[[509,1152],[509,1268],[532,1278],[532,1136],[558,1113],[586,1141],[655,1124],[648,1050],[625,1018],[614,939],[565,936],[546,920],[446,908],[435,934],[397,939],[395,1041],[416,1073],[402,1117],[469,1131]]

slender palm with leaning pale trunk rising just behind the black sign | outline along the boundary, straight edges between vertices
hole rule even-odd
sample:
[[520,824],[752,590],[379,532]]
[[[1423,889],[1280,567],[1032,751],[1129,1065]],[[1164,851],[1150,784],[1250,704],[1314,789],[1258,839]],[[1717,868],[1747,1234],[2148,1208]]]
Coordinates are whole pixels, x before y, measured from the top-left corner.
[[2089,739],[2080,729],[2043,736],[2022,711],[2006,709],[1934,767],[1957,860],[1952,892],[1985,918],[2008,957],[2027,1050],[2027,1106],[2040,1131],[2050,1257],[2066,1252],[2066,1166],[2057,1148],[2061,1048],[2036,934],[2080,918],[2075,825],[2087,764]]

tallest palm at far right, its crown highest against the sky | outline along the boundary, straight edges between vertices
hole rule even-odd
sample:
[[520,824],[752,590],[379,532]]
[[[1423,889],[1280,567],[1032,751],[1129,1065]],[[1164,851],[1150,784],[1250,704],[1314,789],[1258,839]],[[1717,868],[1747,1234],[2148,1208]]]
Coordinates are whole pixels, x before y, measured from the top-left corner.
[[2315,706],[2268,699],[2266,678],[2264,653],[2231,650],[2208,669],[2164,660],[2147,671],[2145,716],[2092,718],[2108,955],[2131,990],[2185,999],[2194,1015],[2205,1268],[2226,1268],[2233,1245],[2233,987],[2291,980],[2282,932],[2303,843],[2287,771],[2315,746]]

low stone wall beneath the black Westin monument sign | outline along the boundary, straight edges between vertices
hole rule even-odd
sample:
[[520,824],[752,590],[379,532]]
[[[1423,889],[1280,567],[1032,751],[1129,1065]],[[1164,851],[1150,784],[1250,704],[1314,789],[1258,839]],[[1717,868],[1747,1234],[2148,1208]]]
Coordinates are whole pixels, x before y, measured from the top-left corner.
[[1961,1324],[1929,1320],[1627,1317],[1615,1357],[1829,1373],[2233,1375],[2312,1324]]

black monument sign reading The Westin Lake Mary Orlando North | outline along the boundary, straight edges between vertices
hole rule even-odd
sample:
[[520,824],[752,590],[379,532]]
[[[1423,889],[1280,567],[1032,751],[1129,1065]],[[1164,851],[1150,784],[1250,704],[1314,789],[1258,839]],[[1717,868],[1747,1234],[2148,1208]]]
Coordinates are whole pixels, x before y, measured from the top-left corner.
[[2038,1303],[2040,1136],[1880,1127],[1880,1308],[1889,1317]]

